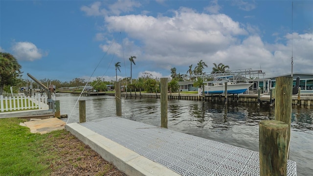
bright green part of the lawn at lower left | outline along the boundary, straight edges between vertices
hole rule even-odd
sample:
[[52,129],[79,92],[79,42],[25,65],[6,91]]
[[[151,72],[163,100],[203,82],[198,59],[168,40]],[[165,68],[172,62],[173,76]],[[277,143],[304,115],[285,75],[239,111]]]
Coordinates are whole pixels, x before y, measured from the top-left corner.
[[0,119],[0,176],[48,176],[49,166],[58,156],[49,152],[53,144],[46,140],[48,134],[30,133],[20,122],[24,120]]

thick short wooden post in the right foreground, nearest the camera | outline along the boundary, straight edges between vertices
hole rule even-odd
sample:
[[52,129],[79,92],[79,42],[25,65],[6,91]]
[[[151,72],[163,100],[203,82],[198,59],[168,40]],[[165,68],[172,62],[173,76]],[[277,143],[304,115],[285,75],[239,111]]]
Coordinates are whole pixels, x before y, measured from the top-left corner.
[[259,132],[260,176],[287,176],[288,125],[262,120]]

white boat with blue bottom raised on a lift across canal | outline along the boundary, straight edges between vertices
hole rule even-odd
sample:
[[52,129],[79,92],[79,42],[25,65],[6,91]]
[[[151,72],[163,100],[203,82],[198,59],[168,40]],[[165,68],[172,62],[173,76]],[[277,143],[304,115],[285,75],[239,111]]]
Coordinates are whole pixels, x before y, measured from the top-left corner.
[[[227,93],[229,94],[238,94],[245,92],[252,83],[227,83]],[[204,86],[205,94],[224,94],[225,85],[216,85],[216,86]]]

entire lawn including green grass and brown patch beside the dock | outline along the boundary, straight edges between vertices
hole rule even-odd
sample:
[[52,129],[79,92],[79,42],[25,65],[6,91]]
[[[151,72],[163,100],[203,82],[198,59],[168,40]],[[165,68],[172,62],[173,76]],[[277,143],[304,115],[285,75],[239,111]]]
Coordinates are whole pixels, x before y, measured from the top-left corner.
[[30,133],[24,121],[0,119],[0,176],[124,176],[66,130]]

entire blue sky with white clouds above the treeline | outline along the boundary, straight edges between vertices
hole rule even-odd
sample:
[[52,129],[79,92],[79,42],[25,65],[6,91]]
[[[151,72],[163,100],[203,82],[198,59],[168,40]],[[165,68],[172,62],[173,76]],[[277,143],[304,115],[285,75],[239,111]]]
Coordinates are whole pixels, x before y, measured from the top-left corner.
[[0,0],[0,52],[69,82],[186,74],[199,61],[265,77],[313,73],[312,0]]

